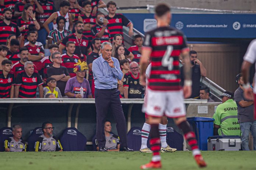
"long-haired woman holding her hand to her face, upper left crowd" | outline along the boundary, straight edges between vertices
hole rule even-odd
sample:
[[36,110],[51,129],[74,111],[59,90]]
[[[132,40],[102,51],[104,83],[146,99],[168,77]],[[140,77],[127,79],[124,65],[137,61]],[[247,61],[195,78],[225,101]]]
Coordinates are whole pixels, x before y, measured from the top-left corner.
[[21,17],[19,17],[17,19],[17,25],[18,25],[19,31],[21,32],[21,35],[22,35],[22,38],[21,38],[22,41],[20,43],[21,46],[22,46],[22,44],[24,44],[24,35],[25,35],[25,32],[28,30],[29,24],[34,23],[35,28],[37,30],[40,29],[40,25],[36,21],[35,17],[36,17],[36,15],[35,15],[35,13],[33,13],[33,6],[31,4],[26,4],[22,11]]

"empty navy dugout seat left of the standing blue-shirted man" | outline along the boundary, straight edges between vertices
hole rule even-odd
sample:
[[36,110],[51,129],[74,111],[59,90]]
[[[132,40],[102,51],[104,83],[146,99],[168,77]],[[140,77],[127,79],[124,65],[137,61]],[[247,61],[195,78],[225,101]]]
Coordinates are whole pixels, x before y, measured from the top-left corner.
[[75,127],[69,127],[63,131],[60,137],[63,151],[85,151],[86,137],[80,133]]

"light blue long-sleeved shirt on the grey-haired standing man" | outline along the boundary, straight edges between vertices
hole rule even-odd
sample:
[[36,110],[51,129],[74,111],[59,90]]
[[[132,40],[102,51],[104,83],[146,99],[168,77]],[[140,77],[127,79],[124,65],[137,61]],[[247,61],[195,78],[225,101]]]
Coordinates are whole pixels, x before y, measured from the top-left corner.
[[123,74],[117,58],[111,58],[114,61],[114,68],[109,66],[109,63],[104,60],[102,55],[92,62],[94,84],[97,89],[117,88],[117,79],[122,79]]

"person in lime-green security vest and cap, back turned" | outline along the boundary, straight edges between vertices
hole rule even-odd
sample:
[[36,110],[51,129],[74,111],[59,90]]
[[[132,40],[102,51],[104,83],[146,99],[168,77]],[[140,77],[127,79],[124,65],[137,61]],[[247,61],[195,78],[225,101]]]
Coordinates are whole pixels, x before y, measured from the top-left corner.
[[214,135],[238,135],[241,130],[237,119],[237,104],[234,94],[225,91],[221,96],[222,104],[218,105],[213,115]]

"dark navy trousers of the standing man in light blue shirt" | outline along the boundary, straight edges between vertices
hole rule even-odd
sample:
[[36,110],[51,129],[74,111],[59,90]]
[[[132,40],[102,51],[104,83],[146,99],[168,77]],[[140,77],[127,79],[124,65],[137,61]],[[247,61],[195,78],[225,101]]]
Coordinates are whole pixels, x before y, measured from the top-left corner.
[[117,132],[120,137],[120,148],[127,147],[127,129],[122,110],[122,104],[119,97],[120,92],[117,88],[103,90],[95,88],[95,105],[97,112],[97,131],[96,138],[99,148],[105,147],[106,138],[104,132],[104,121],[106,119],[109,107],[117,123]]

